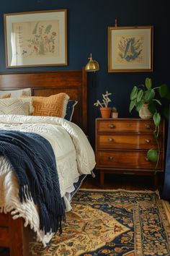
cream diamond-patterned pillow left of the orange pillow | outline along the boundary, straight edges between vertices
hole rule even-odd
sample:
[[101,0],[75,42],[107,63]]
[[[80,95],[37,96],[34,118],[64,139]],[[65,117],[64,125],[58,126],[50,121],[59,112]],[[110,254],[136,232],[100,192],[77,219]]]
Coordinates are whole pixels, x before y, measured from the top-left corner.
[[0,99],[0,115],[14,114],[29,116],[34,111],[31,98]]

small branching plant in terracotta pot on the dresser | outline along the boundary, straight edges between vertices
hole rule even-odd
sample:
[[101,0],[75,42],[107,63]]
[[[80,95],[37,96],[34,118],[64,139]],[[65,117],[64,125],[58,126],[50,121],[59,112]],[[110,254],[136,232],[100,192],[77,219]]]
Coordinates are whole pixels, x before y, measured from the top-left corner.
[[94,106],[100,106],[100,112],[103,118],[109,118],[112,110],[111,107],[108,107],[109,102],[111,102],[109,95],[112,95],[112,93],[108,93],[108,91],[105,94],[102,93],[102,102],[97,100],[94,103]]

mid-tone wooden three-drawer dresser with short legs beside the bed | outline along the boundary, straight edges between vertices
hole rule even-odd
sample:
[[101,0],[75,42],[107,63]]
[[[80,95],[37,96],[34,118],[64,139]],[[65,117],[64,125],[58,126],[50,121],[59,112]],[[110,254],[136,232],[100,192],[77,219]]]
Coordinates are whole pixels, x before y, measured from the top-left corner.
[[103,187],[107,173],[150,175],[156,186],[156,174],[164,171],[164,127],[161,121],[158,135],[161,152],[156,166],[147,158],[149,149],[157,149],[152,119],[96,119],[95,155],[100,186]]

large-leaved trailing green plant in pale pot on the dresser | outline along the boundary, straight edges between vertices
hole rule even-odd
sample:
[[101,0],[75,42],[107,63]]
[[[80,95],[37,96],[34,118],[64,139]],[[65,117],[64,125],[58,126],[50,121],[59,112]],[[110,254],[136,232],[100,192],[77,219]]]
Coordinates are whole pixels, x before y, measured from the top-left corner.
[[161,116],[169,118],[169,99],[170,93],[166,84],[153,88],[151,78],[146,78],[145,85],[134,86],[130,93],[130,113],[135,108],[139,112],[140,118],[152,118],[155,124],[153,136],[156,140],[157,149],[148,150],[147,157],[149,161],[156,162],[160,154],[158,144],[159,125]]

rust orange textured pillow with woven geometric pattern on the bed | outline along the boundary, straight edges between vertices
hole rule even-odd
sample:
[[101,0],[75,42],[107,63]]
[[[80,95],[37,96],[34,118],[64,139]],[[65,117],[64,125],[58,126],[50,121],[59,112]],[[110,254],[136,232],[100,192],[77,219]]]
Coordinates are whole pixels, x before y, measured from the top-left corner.
[[58,116],[64,118],[69,96],[58,93],[49,97],[32,96],[32,105],[35,111],[32,116]]

